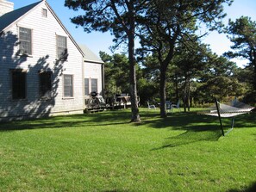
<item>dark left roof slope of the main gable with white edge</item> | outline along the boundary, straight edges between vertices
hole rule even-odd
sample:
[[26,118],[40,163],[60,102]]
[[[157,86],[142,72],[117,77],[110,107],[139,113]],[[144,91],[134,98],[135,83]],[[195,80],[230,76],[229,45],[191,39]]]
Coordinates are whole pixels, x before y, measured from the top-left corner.
[[9,13],[0,16],[0,32],[2,32],[3,29],[9,27],[9,25],[11,25],[13,22],[16,22],[16,20],[22,17],[22,15],[28,13],[29,10],[33,9],[39,3],[41,2],[29,4],[28,6],[10,11]]

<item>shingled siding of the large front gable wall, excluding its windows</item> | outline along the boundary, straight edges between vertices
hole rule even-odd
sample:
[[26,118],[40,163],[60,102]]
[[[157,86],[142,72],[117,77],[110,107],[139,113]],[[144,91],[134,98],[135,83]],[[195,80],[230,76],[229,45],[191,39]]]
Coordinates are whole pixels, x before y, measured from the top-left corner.
[[[47,9],[47,17],[41,15],[42,9]],[[32,29],[32,55],[29,57],[16,55],[19,27]],[[0,121],[83,113],[83,56],[47,4],[40,3],[3,32],[0,39]],[[56,35],[67,37],[66,61],[56,60]],[[24,100],[12,100],[11,69],[27,71],[27,98]],[[39,71],[52,71],[53,97],[50,100],[39,97]],[[68,99],[63,97],[64,74],[73,76],[73,97]]]

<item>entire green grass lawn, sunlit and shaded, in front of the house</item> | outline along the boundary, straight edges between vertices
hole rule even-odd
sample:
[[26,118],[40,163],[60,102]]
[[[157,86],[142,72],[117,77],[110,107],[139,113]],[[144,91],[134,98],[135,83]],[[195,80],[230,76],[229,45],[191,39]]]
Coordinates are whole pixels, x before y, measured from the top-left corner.
[[[140,109],[0,125],[0,191],[255,191],[256,115]],[[224,121],[230,127],[229,120]]]

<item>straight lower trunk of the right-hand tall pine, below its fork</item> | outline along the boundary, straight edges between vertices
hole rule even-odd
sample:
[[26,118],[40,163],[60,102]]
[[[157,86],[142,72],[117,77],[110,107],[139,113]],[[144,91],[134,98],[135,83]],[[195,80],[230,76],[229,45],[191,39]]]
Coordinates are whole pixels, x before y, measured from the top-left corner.
[[166,106],[165,106],[165,100],[166,100],[166,69],[167,69],[167,65],[165,65],[165,64],[160,65],[159,95],[160,95],[160,117],[162,117],[162,118],[165,118],[167,116]]

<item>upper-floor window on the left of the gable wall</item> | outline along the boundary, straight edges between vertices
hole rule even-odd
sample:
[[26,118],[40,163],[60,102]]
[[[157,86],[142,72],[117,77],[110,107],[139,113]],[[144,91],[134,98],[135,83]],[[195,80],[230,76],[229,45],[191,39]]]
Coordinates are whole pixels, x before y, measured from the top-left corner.
[[32,54],[32,38],[29,28],[20,28],[20,52],[23,54]]

